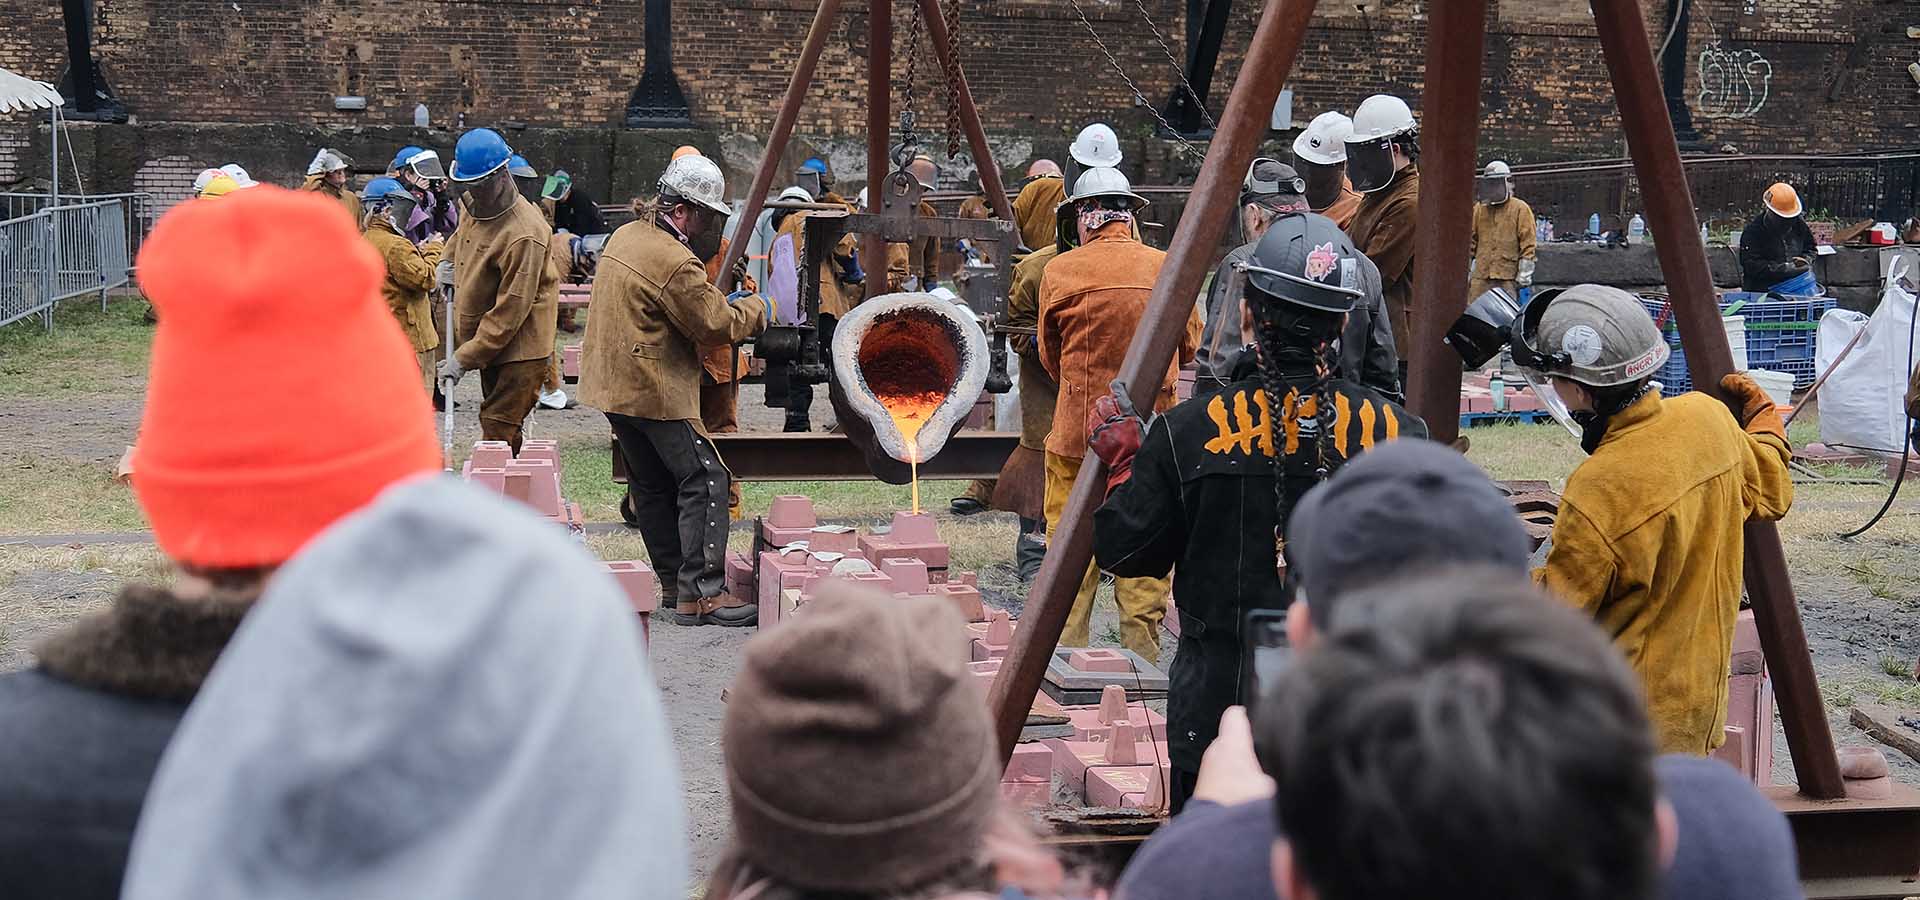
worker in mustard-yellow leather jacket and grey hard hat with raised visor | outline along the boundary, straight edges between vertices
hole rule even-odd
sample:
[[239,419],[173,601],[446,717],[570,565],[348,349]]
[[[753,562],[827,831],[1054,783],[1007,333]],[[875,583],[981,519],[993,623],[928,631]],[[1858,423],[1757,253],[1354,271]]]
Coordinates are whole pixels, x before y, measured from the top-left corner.
[[1709,754],[1726,741],[1741,526],[1793,503],[1780,413],[1743,374],[1720,380],[1738,418],[1705,393],[1661,397],[1651,374],[1667,340],[1619,288],[1546,292],[1507,332],[1513,361],[1592,455],[1567,478],[1534,580],[1613,635],[1645,685],[1661,752]]

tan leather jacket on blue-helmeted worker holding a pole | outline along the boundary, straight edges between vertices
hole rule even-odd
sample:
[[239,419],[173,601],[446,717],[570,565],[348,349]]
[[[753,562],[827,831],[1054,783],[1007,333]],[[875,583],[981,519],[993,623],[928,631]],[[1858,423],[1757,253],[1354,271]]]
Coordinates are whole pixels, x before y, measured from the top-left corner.
[[526,198],[480,219],[465,209],[453,259],[453,359],[474,370],[547,359],[561,315],[561,272],[547,257],[553,228]]

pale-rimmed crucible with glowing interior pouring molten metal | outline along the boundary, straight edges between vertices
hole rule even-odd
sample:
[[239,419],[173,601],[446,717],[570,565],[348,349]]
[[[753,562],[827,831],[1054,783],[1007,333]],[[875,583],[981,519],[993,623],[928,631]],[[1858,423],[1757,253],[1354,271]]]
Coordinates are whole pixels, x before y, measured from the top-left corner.
[[[854,307],[833,330],[833,380],[899,462],[925,462],[960,428],[987,386],[987,334],[972,313],[931,294],[887,294]],[[900,401],[931,403],[918,436],[900,434]],[[885,399],[883,399],[885,397]]]

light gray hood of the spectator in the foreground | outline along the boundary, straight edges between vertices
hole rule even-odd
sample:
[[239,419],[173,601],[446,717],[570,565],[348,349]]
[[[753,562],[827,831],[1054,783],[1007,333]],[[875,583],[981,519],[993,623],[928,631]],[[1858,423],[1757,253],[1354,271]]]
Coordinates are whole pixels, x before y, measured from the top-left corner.
[[282,568],[215,664],[121,896],[684,898],[637,629],[524,507],[390,489]]

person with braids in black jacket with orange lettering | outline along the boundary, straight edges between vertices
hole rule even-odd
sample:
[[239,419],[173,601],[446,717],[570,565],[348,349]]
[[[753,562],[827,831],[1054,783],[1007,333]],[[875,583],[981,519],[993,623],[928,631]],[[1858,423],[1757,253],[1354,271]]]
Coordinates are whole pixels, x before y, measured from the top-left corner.
[[1331,219],[1281,217],[1231,288],[1244,297],[1240,328],[1254,345],[1233,384],[1152,424],[1121,391],[1102,395],[1087,416],[1110,491],[1094,512],[1094,560],[1117,578],[1175,572],[1181,645],[1167,689],[1175,812],[1192,796],[1221,714],[1248,700],[1246,612],[1286,608],[1279,560],[1294,505],[1369,447],[1427,436],[1425,422],[1380,391],[1334,374],[1334,342],[1361,297],[1357,261]]

